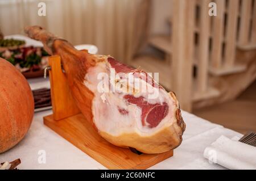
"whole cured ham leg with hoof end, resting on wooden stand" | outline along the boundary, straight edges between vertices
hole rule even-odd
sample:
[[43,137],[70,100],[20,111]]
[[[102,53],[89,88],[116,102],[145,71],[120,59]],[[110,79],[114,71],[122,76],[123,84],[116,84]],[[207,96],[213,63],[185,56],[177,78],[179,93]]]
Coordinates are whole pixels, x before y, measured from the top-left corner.
[[49,54],[59,54],[72,95],[86,120],[114,145],[163,153],[181,144],[185,123],[174,92],[111,56],[76,50],[39,26],[27,27]]

